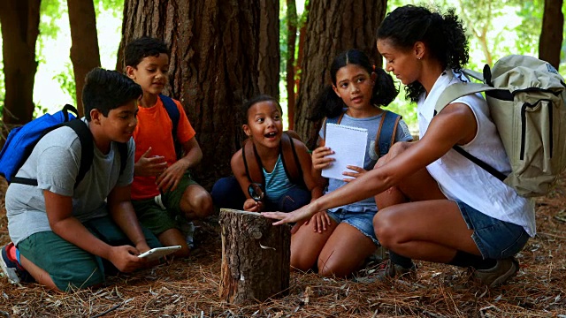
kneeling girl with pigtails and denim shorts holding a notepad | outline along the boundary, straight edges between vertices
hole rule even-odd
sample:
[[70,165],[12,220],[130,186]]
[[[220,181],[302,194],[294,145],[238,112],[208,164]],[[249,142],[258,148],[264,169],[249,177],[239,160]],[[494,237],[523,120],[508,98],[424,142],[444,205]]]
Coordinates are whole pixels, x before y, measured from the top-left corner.
[[[397,95],[393,79],[382,69],[376,70],[362,51],[341,53],[334,58],[330,71],[332,85],[318,95],[311,116],[314,120],[326,117],[319,147],[312,153],[314,177],[325,181],[322,186],[326,193],[373,169],[395,141],[412,140],[401,117],[379,107]],[[363,167],[348,165],[340,179],[320,178],[321,171],[332,166],[333,155],[340,153],[340,148],[325,147],[325,137],[332,137],[325,135],[325,128],[331,123],[367,131],[367,140],[362,141]],[[317,265],[322,276],[349,276],[379,244],[371,223],[377,211],[375,200],[370,198],[318,212],[292,236],[291,266],[304,271]]]

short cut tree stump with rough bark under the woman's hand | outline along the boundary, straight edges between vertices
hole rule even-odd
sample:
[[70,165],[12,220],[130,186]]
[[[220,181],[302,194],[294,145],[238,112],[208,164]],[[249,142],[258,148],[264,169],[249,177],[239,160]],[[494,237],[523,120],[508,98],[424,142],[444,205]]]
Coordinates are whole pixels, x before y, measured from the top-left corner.
[[230,304],[263,302],[289,287],[291,232],[258,213],[220,209],[220,298]]

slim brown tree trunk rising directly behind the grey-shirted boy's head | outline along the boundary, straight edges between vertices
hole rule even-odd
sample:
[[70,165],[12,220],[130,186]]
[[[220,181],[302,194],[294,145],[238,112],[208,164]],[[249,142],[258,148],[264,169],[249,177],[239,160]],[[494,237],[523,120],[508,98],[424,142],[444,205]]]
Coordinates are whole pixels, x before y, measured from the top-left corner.
[[96,34],[95,4],[85,0],[67,0],[69,22],[71,25],[71,61],[73,62],[74,81],[76,84],[77,109],[79,116],[84,115],[82,106],[82,87],[85,76],[95,67],[100,66],[98,34]]

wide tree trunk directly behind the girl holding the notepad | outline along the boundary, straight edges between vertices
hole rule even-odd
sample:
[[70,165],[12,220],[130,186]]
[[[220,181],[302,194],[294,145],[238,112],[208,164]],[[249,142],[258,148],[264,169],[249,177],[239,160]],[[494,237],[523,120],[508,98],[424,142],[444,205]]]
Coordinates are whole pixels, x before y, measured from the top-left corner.
[[381,65],[375,34],[386,13],[386,0],[311,0],[294,130],[314,148],[320,123],[306,119],[325,84],[333,58],[346,49],[362,49]]

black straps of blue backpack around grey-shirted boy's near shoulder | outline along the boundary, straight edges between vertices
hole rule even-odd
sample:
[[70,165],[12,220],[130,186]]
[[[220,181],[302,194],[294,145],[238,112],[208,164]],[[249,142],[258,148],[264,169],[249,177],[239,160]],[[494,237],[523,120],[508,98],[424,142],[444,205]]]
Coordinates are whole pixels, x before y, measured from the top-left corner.
[[[94,157],[94,141],[92,138],[92,133],[90,133],[90,129],[88,129],[88,125],[86,125],[80,119],[73,119],[68,122],[65,122],[60,125],[53,126],[53,129],[46,131],[43,136],[59,127],[67,126],[73,129],[73,131],[79,136],[80,141],[80,163],[79,163],[79,173],[77,174],[77,178],[75,178],[73,188],[79,186],[80,181],[85,178],[90,166],[92,165],[92,159]],[[43,138],[43,137],[42,137]],[[13,183],[24,184],[28,186],[37,186],[37,179],[33,178],[21,178],[21,177],[14,177],[12,178]]]

